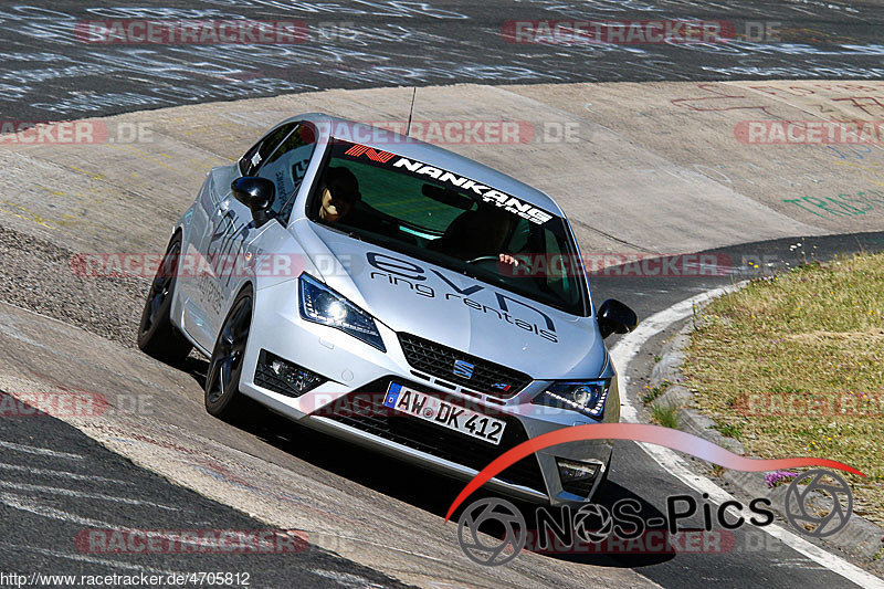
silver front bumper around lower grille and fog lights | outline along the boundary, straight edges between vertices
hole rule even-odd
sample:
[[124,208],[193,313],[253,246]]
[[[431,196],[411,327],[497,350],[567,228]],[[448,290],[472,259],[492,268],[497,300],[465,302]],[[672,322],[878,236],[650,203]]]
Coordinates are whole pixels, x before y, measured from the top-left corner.
[[[435,472],[469,481],[494,459],[537,435],[571,425],[593,423],[581,413],[532,404],[548,381],[533,381],[509,399],[499,399],[441,381],[414,370],[402,351],[397,334],[378,324],[387,353],[337,329],[302,319],[292,302],[297,301],[297,281],[259,291],[249,345],[245,351],[242,392],[273,411],[313,429],[346,439],[388,455],[417,463]],[[265,350],[308,368],[327,381],[292,397],[272,390],[266,380],[255,382],[259,358]],[[475,440],[434,423],[390,414],[382,407],[391,381],[506,421],[499,445]],[[276,387],[278,390],[278,387]],[[354,402],[361,411],[354,411]],[[620,418],[618,379],[609,391],[604,422]],[[610,464],[611,443],[581,441],[561,444],[527,456],[493,478],[487,486],[532,502],[552,504],[586,502],[596,492]],[[591,491],[568,493],[559,478],[556,459],[598,466]],[[588,487],[587,487],[588,488]]]

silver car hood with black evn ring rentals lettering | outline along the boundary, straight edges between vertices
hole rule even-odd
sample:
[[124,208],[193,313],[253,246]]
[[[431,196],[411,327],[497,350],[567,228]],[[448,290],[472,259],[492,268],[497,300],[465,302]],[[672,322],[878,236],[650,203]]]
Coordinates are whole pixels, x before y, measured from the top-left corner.
[[[302,225],[303,229],[306,229]],[[577,317],[407,254],[309,223],[320,277],[394,332],[527,372],[596,378],[606,361],[594,318]],[[338,264],[329,264],[329,259]],[[341,271],[343,270],[343,271]]]

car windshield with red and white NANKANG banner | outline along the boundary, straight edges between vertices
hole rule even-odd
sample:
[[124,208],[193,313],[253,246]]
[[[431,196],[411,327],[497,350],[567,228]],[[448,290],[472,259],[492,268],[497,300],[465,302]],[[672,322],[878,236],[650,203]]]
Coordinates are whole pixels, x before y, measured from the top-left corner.
[[362,241],[587,314],[582,273],[562,263],[577,259],[565,220],[470,178],[334,139],[308,207]]

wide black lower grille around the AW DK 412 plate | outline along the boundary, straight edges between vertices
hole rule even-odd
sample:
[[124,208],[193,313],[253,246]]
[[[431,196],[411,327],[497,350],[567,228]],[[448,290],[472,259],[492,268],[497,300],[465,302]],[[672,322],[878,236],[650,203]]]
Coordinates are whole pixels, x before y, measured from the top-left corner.
[[[505,421],[506,429],[504,429],[504,434],[498,445],[475,440],[442,425],[400,413],[383,406],[383,393],[390,386],[391,380],[389,377],[382,378],[350,392],[348,402],[336,403],[337,407],[348,408],[349,410],[335,411],[326,417],[390,442],[425,452],[455,464],[462,464],[475,471],[481,471],[494,459],[528,439],[525,428],[517,419],[499,413],[494,417]],[[435,397],[443,397],[446,400],[450,399],[445,393],[434,391],[415,382],[399,378],[396,381],[410,389]],[[356,410],[357,408],[358,410]],[[540,464],[535,455],[522,459],[498,474],[496,478],[546,493]]]

